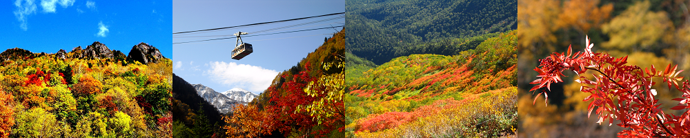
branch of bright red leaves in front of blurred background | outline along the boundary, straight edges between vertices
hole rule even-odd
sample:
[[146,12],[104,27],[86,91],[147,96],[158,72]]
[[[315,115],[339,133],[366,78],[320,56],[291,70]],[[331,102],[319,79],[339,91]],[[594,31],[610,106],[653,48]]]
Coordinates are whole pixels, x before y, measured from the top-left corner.
[[[542,68],[534,70],[539,73],[537,77],[541,78],[531,82],[538,86],[534,86],[530,91],[544,87],[550,91],[551,83],[563,81],[560,77],[564,76],[561,73],[564,70],[573,70],[578,76],[586,70],[594,70],[600,74],[593,75],[595,81],[584,76],[575,81],[582,84],[580,91],[591,94],[583,101],[592,101],[589,104],[590,114],[597,108],[595,113],[599,115],[598,123],[609,119],[609,124],[613,124],[613,119],[618,119],[618,126],[631,128],[619,132],[619,137],[690,137],[690,110],[687,110],[690,101],[690,82],[684,81],[678,85],[678,81],[682,81],[682,77],[676,77],[682,72],[676,72],[678,66],[671,67],[669,64],[663,71],[657,71],[654,66],[651,66],[651,70],[625,66],[627,57],[614,58],[607,53],[593,53],[591,48],[594,44],[589,43],[589,38],[586,39],[586,43],[588,46],[584,52],[572,55],[569,48],[567,55],[554,52],[550,57],[540,59]],[[685,110],[682,115],[669,115],[659,108],[661,104],[654,97],[656,90],[651,88],[655,84],[652,77],[663,79],[669,88],[675,86],[684,93],[683,98],[673,99],[680,101],[680,106],[671,108]],[[591,85],[594,87],[590,87]],[[539,95],[542,93],[544,97],[548,97],[546,90]]]

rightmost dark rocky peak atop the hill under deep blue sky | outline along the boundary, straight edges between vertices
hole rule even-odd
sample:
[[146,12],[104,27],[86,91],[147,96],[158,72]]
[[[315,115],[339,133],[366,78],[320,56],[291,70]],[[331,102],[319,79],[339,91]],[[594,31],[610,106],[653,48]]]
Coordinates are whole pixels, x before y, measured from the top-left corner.
[[127,56],[128,60],[139,61],[140,63],[144,64],[156,63],[161,58],[165,57],[163,57],[158,48],[150,46],[148,43],[144,42],[132,47],[132,50],[130,50],[129,55]]

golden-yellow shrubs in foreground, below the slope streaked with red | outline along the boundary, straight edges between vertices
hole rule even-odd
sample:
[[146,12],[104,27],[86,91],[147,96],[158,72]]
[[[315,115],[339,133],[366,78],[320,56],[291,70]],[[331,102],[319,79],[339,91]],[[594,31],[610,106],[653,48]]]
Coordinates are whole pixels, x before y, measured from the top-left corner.
[[[485,123],[482,126],[498,127],[505,125],[500,122],[506,121],[514,122],[509,124],[517,124],[517,88],[502,88],[486,93],[489,93],[489,96],[482,99],[469,98],[471,100],[467,103],[442,104],[441,109],[428,111],[433,112],[428,117],[421,117],[396,128],[378,132],[365,130],[356,132],[355,137],[490,137],[491,134],[477,132],[475,126]],[[484,122],[475,121],[480,118],[492,119]],[[346,126],[347,129],[353,130],[357,127],[359,126],[353,124]]]

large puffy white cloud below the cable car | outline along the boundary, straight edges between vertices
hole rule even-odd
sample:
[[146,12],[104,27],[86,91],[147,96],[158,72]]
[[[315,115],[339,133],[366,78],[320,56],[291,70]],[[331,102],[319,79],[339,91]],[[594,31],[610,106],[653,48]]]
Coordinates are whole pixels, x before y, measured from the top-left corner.
[[211,79],[228,86],[246,88],[253,92],[263,92],[270,86],[271,81],[278,75],[275,70],[268,70],[259,66],[225,63],[223,61],[210,62],[210,70],[206,71]]

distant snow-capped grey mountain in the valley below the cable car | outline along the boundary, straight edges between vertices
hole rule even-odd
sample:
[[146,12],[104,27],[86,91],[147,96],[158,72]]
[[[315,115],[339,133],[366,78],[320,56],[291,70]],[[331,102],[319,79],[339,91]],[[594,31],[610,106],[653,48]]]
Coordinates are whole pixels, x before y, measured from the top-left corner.
[[227,97],[226,95],[223,95],[219,92],[216,92],[212,88],[208,88],[204,85],[201,84],[192,84],[194,88],[197,90],[197,94],[201,97],[204,98],[204,100],[208,101],[209,103],[213,104],[215,108],[218,109],[218,111],[222,113],[228,113],[233,110],[233,106],[237,103],[245,103],[242,101],[237,101],[235,99],[231,99]]

